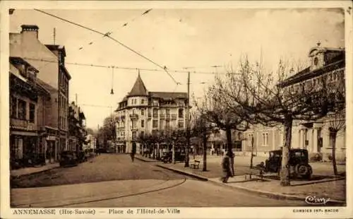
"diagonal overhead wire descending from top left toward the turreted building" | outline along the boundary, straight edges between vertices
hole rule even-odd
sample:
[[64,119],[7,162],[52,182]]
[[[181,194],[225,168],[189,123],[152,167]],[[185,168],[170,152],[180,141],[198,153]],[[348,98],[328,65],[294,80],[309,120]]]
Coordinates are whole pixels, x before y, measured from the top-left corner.
[[95,32],[95,33],[97,33],[97,34],[100,34],[100,35],[103,35],[103,36],[105,36],[105,37],[108,37],[109,39],[113,40],[114,42],[117,42],[119,45],[121,45],[121,46],[125,47],[126,49],[130,50],[131,52],[137,54],[139,57],[142,57],[143,59],[146,59],[146,60],[150,61],[152,64],[155,64],[156,66],[160,67],[160,69],[163,69],[164,72],[167,73],[170,78],[172,78],[172,80],[174,81],[174,83],[179,83],[179,82],[177,82],[177,81],[175,80],[175,78],[168,72],[167,66],[161,66],[160,64],[157,64],[155,61],[152,61],[152,59],[149,59],[148,57],[145,57],[143,54],[140,54],[140,52],[137,52],[137,51],[135,51],[134,49],[131,49],[130,47],[128,47],[127,45],[125,45],[124,43],[120,42],[119,40],[114,39],[113,37],[110,36],[110,35],[111,35],[110,32],[103,33],[103,32],[100,32],[100,31],[98,31],[98,30],[94,30],[94,29],[92,29],[92,28],[88,28],[88,27],[85,27],[85,26],[80,25],[80,24],[78,24],[78,23],[75,23],[75,22],[73,22],[73,21],[71,21],[71,20],[66,20],[65,18],[60,18],[59,16],[55,16],[55,15],[52,14],[52,13],[47,13],[47,12],[41,11],[41,10],[39,10],[39,9],[34,9],[34,10],[35,10],[35,11],[39,11],[40,13],[44,13],[44,14],[46,14],[47,16],[52,16],[52,17],[57,18],[57,19],[59,19],[59,20],[63,20],[63,21],[65,21],[65,22],[67,22],[67,23],[71,23],[72,25],[77,25],[77,26],[80,27],[80,28],[84,28],[84,29],[86,29],[86,30],[90,30],[90,31]]

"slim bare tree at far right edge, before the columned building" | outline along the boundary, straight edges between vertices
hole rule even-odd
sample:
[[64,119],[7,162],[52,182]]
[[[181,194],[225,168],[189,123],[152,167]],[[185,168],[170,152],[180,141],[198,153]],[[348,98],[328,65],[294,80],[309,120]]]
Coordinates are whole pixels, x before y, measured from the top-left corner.
[[332,162],[333,162],[333,173],[338,174],[337,164],[336,164],[336,139],[339,131],[345,131],[346,121],[345,121],[345,109],[340,110],[340,112],[335,112],[328,114],[327,117],[328,124],[330,125],[330,146],[332,148]]

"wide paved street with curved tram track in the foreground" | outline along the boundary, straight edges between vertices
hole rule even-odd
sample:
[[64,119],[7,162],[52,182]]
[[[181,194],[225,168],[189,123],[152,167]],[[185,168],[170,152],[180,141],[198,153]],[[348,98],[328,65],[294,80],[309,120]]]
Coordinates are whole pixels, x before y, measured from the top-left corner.
[[[133,206],[302,206],[303,201],[279,201],[224,187],[155,167],[131,162],[128,155],[103,154],[78,167],[59,168],[20,177],[11,189],[17,207]],[[78,186],[78,183],[79,186]],[[46,186],[46,187],[45,187]],[[36,188],[29,188],[36,187]]]

